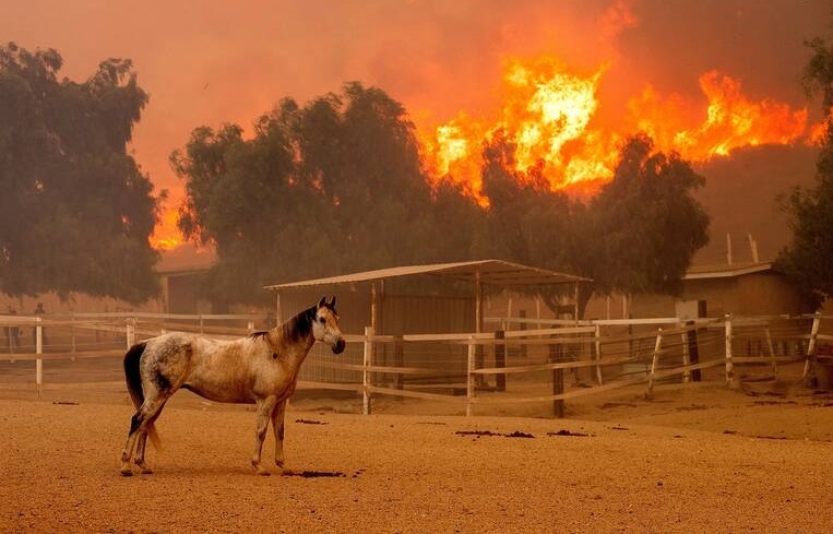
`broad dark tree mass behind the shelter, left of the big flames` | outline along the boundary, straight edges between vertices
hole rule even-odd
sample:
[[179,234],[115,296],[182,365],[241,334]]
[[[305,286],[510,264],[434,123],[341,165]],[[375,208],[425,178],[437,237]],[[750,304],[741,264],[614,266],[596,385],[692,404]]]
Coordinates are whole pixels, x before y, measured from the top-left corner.
[[472,218],[450,229],[474,202],[431,188],[414,124],[379,88],[348,83],[304,107],[285,99],[250,140],[234,124],[198,128],[171,162],[186,180],[180,228],[217,250],[206,284],[216,301],[263,301],[263,285],[281,281],[468,257]]

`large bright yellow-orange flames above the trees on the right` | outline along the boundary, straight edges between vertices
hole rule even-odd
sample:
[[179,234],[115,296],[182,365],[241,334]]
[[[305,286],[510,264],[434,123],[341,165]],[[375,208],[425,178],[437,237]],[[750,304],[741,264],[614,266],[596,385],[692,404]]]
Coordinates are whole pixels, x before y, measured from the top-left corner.
[[450,178],[480,194],[481,149],[495,132],[507,132],[516,144],[515,170],[543,168],[552,189],[595,189],[609,179],[618,146],[629,134],[645,132],[657,150],[676,151],[701,162],[728,155],[742,146],[789,144],[807,139],[807,108],[793,109],[772,99],[747,97],[738,80],[718,71],[700,76],[704,102],[663,96],[652,86],[628,100],[616,129],[599,124],[598,87],[607,66],[595,72],[570,72],[551,58],[508,62],[503,99],[486,123],[459,114],[451,121],[421,130],[435,180]]

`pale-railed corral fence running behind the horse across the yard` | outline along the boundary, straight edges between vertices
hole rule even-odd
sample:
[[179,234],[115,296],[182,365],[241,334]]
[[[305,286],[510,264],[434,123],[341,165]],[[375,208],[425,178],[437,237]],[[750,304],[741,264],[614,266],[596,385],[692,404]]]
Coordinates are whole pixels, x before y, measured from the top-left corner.
[[[230,339],[264,328],[263,320],[254,315],[0,316],[5,334],[0,383],[4,372],[31,372],[15,364],[34,361],[39,392],[44,361],[60,366],[76,358],[100,358],[98,378],[116,381],[124,349],[135,341],[169,331]],[[798,365],[809,380],[817,370],[829,372],[833,358],[833,316],[486,321],[491,331],[481,333],[377,335],[366,328],[345,335],[341,355],[317,344],[298,389],[354,392],[366,414],[374,397],[388,396],[441,402],[467,415],[527,404],[563,416],[570,399],[628,385],[644,384],[651,395],[664,382],[774,378],[785,365]]]

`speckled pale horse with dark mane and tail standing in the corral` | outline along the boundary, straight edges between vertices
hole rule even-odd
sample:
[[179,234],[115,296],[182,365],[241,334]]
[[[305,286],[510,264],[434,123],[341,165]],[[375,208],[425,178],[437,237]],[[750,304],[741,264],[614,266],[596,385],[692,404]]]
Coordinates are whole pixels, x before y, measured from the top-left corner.
[[284,413],[295,392],[298,370],[316,342],[344,352],[338,329],[335,297],[301,311],[265,332],[235,341],[215,341],[188,333],[168,333],[136,343],[124,355],[124,379],[136,412],[121,453],[121,474],[131,476],[131,460],[142,474],[153,471],[145,464],[145,444],[159,448],[154,423],[170,396],[180,388],[205,399],[257,406],[254,454],[257,474],[269,475],[261,463],[263,440],[270,420],[275,435],[275,464],[283,474]]

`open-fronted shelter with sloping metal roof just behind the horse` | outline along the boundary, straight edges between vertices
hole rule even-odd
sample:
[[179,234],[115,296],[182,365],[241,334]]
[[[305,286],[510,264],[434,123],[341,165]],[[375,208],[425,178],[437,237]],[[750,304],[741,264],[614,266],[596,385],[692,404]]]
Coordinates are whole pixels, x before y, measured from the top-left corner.
[[[403,290],[403,282],[431,278],[439,289],[426,290],[431,284]],[[374,335],[394,339],[403,334],[479,333],[484,323],[484,288],[497,289],[534,286],[567,285],[575,306],[580,283],[588,278],[546,269],[521,265],[502,260],[465,261],[427,265],[405,265],[324,278],[306,280],[267,286],[276,294],[278,321],[304,310],[323,295],[337,297],[342,316],[342,332],[361,334],[366,327]],[[449,288],[455,290],[449,292]],[[392,290],[393,289],[393,290]],[[445,289],[443,292],[443,289]],[[372,360],[384,365],[391,358],[394,365],[407,361],[410,367],[437,370],[436,380],[424,377],[423,383],[447,383],[453,377],[465,376],[465,346],[454,344],[426,344],[405,346],[402,343],[381,343],[373,347]],[[335,363],[326,351],[317,353],[318,363]],[[483,358],[478,347],[478,358]],[[361,363],[361,347],[352,348],[338,361]],[[356,371],[353,371],[356,375]],[[350,371],[306,366],[301,379],[326,382],[355,382],[358,376]],[[374,380],[382,380],[377,377]],[[397,387],[402,387],[402,379]],[[410,379],[409,379],[410,381]]]

